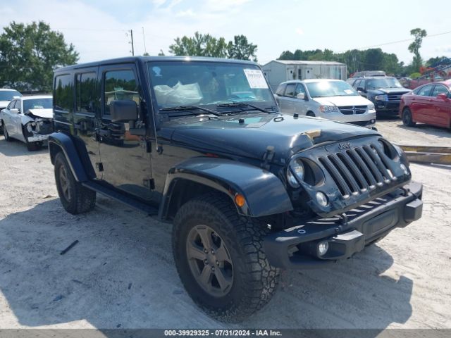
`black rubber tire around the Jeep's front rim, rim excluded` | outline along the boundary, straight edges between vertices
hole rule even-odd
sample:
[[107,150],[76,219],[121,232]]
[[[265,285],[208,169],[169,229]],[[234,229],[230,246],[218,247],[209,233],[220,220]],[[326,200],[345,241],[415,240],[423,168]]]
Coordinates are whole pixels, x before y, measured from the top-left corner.
[[[204,291],[187,258],[187,236],[206,225],[221,237],[233,262],[233,284],[228,294],[215,297]],[[226,196],[206,194],[184,204],[173,222],[173,255],[180,280],[195,303],[218,320],[237,323],[263,307],[273,296],[279,269],[271,266],[263,249],[266,224],[237,214]]]

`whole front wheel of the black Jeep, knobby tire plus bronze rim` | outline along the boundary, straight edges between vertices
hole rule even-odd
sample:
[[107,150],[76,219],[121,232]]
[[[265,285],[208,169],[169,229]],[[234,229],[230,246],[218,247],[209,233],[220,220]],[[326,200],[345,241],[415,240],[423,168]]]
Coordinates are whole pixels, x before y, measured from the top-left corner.
[[279,270],[264,253],[267,231],[258,220],[238,215],[220,194],[180,208],[173,226],[175,265],[202,310],[218,320],[239,322],[268,303]]

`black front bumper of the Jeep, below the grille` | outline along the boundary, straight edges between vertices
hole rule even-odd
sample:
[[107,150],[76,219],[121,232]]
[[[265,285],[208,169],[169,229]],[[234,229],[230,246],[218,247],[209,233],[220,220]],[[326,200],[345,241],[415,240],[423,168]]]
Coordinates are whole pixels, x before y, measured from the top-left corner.
[[[364,246],[384,237],[395,227],[405,227],[421,217],[421,183],[411,182],[385,196],[359,206],[345,215],[316,218],[264,239],[266,257],[271,265],[285,269],[321,268],[350,258]],[[328,242],[323,256],[319,242]]]

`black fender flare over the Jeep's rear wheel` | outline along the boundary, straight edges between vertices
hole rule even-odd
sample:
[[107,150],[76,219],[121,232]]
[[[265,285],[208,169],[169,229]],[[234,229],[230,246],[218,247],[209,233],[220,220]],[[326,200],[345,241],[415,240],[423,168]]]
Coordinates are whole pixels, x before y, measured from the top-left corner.
[[[95,177],[94,169],[89,161],[89,156],[83,158],[83,154],[80,154],[80,146],[77,146],[75,139],[63,132],[54,132],[49,135],[49,153],[51,164],[54,164],[54,158],[56,153],[61,149],[66,160],[69,163],[70,170],[78,182],[87,182]],[[86,149],[85,149],[86,152]],[[89,165],[87,165],[89,163]],[[92,177],[94,174],[94,177]]]

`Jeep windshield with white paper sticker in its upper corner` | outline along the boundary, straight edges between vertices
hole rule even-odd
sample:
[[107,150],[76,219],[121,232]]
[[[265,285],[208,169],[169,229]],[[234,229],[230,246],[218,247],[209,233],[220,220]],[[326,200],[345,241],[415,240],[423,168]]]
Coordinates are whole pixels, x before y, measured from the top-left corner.
[[[226,104],[276,106],[257,65],[209,61],[154,61],[148,63],[154,97],[160,110],[204,107],[216,111]],[[221,106],[224,105],[224,106]]]

